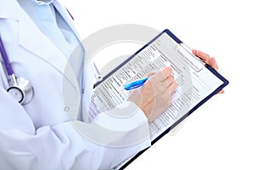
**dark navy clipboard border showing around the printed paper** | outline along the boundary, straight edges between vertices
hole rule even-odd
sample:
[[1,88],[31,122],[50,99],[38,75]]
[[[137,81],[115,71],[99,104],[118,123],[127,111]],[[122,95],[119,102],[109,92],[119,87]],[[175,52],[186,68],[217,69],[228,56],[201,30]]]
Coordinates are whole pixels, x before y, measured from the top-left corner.
[[[143,51],[144,48],[147,48],[152,42],[156,41],[160,36],[162,36],[164,33],[166,33],[169,37],[172,38],[172,40],[174,42],[177,42],[177,44],[181,45],[181,47],[186,50],[189,53],[189,48],[188,46],[186,46],[179,38],[177,38],[171,31],[169,31],[168,29],[160,32],[159,35],[157,35],[156,37],[154,37],[150,42],[148,42],[146,45],[143,46],[143,48],[140,48],[135,54],[131,55],[130,58],[126,59],[123,63],[121,63],[119,66],[117,66],[115,69],[113,69],[113,71],[110,71],[108,73],[107,76],[102,77],[102,80],[100,82],[96,82],[96,84],[94,85],[94,88],[96,88],[99,84],[101,84],[102,82],[104,82],[108,77],[110,77],[111,75],[113,75],[114,72],[118,71],[119,68],[121,68],[122,66],[124,66],[126,63],[128,63],[131,59],[133,59],[134,57],[137,56],[137,54],[139,54],[141,51]],[[191,50],[190,50],[191,51]],[[191,54],[191,53],[190,53]],[[193,54],[192,54],[193,55]],[[196,59],[198,59],[197,57],[195,57]],[[198,59],[200,60],[200,59]],[[200,60],[201,61],[201,60]],[[154,140],[151,141],[151,145],[155,144],[159,139],[161,139],[163,136],[166,135],[166,133],[169,133],[173,127],[176,127],[178,123],[182,122],[186,117],[188,117],[191,113],[193,113],[197,108],[199,108],[201,105],[203,105],[205,102],[207,102],[208,99],[211,99],[213,95],[218,94],[219,91],[221,91],[225,86],[227,86],[229,84],[229,81],[224,78],[222,75],[220,75],[218,73],[218,71],[215,71],[210,65],[205,65],[205,67],[207,68],[208,71],[212,72],[212,74],[215,77],[218,77],[218,79],[221,81],[221,85],[218,86],[218,88],[216,88],[211,94],[207,95],[207,97],[205,97],[204,99],[201,99],[201,101],[199,103],[197,103],[192,109],[190,109],[186,114],[184,114],[182,117],[180,117],[176,122],[174,122],[172,124],[172,126],[168,127],[163,133],[160,133],[160,135],[155,138]],[[148,147],[150,148],[150,147]],[[129,159],[129,161],[125,161],[125,163],[120,163],[117,167],[115,167],[114,169],[124,169],[125,167],[127,167],[132,161],[136,160],[138,156],[141,156],[143,154],[144,151],[148,150],[144,149],[141,150],[140,152],[137,153],[137,155],[131,157]]]

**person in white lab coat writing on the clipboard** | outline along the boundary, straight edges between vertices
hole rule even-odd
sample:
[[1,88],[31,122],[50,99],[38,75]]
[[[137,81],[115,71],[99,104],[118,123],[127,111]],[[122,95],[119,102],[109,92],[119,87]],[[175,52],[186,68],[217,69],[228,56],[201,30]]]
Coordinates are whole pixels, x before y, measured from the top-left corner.
[[[81,70],[83,48],[77,50],[75,62],[69,62],[79,39],[66,8],[57,0],[0,0],[0,4],[0,37],[6,52],[0,58],[1,169],[110,169],[150,146],[149,138],[137,138],[142,133],[148,136],[148,122],[170,104],[177,88],[171,68],[155,73],[113,109],[114,114],[133,110],[127,120],[102,113],[83,122],[93,71]],[[218,67],[207,54],[193,53]],[[23,96],[20,88],[29,90]],[[122,133],[99,144],[84,138],[73,124],[92,131],[97,124]],[[114,147],[127,139],[138,142]]]

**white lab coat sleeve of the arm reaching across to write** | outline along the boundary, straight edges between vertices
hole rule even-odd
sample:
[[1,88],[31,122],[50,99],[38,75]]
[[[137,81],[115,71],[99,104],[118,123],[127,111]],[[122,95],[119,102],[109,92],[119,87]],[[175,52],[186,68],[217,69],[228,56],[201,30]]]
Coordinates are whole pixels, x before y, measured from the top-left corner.
[[[127,121],[117,133],[113,129],[118,128],[118,124],[122,125],[122,119],[111,115],[115,111],[110,115],[97,116],[90,124],[62,122],[36,129],[23,107],[1,87],[0,101],[1,169],[109,169],[150,145],[148,138],[141,138],[137,143],[131,140],[122,144],[127,138],[140,139],[137,136],[143,136],[142,131],[148,133],[148,123],[144,123],[147,119],[140,110],[129,117],[132,126],[129,128],[130,122]],[[131,105],[120,105],[123,107],[120,109]],[[103,123],[103,119],[107,122]],[[134,119],[137,122],[133,122]],[[80,127],[90,130],[100,128],[100,131],[94,131],[98,134],[90,138],[86,136],[86,131],[80,131]],[[102,129],[115,139],[101,140],[106,135],[101,134],[104,132]]]

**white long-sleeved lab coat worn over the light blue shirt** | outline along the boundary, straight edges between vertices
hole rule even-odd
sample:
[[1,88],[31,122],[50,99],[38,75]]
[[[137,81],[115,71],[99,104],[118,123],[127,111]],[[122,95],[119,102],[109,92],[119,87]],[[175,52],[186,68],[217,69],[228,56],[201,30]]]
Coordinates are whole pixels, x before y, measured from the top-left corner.
[[[104,113],[90,124],[76,121],[75,114],[70,121],[67,115],[76,113],[79,108],[73,101],[82,97],[82,105],[88,108],[93,73],[84,74],[85,93],[81,96],[67,58],[44,37],[19,3],[0,0],[0,4],[0,34],[9,60],[16,76],[26,77],[35,92],[31,103],[20,105],[6,92],[6,77],[3,77],[3,71],[0,74],[0,169],[109,169],[150,145],[147,138],[137,144],[112,147],[122,145],[127,138],[141,135],[141,127],[143,133],[148,133],[147,118],[131,102],[119,105],[123,112],[130,111],[131,107],[137,108],[137,112],[124,122]],[[75,31],[66,8],[58,1],[54,5]],[[65,71],[69,74],[63,78]],[[63,80],[67,86],[65,89],[70,89],[68,95],[72,94],[70,100],[63,99]],[[122,131],[115,138],[108,139],[112,146],[96,144],[73,127],[75,124],[79,129],[93,131],[91,125],[96,123]]]

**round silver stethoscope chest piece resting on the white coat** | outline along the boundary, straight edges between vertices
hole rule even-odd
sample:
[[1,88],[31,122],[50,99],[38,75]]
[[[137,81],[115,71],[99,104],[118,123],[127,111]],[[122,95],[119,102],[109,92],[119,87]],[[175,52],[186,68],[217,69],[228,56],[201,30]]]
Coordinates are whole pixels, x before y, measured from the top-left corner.
[[21,105],[29,103],[34,95],[31,83],[26,78],[16,77],[13,85],[7,89],[7,92],[13,96]]

